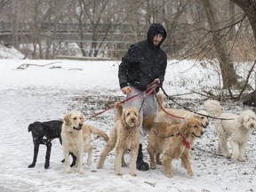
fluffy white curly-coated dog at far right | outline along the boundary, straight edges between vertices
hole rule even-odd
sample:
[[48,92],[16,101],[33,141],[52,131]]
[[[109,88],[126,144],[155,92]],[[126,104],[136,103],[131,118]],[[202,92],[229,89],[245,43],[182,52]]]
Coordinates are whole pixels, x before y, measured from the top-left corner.
[[[206,100],[204,107],[207,112],[219,119],[215,120],[215,129],[219,138],[217,153],[230,158],[231,161],[245,161],[244,150],[252,128],[256,125],[256,116],[252,110],[245,110],[239,116],[231,113],[222,113],[220,102]],[[228,151],[229,144],[232,156]]]

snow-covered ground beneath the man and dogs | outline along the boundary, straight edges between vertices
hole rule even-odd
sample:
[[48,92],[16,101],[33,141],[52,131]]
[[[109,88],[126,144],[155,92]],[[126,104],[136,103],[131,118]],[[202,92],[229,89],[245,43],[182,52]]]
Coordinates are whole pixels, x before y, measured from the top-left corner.
[[[47,65],[49,63],[52,64]],[[92,116],[111,107],[116,100],[124,100],[118,86],[118,64],[115,60],[0,60],[0,191],[256,191],[255,130],[247,144],[247,161],[231,164],[228,159],[215,154],[218,139],[213,121],[191,151],[193,177],[188,176],[178,160],[172,164],[172,179],[165,177],[160,165],[156,170],[138,171],[137,177],[129,175],[128,167],[124,167],[124,174],[116,176],[113,152],[107,157],[103,169],[98,170],[96,162],[105,141],[97,137],[92,141],[90,167],[84,158],[84,175],[76,168],[69,174],[65,172],[64,164],[60,162],[63,154],[59,140],[52,141],[49,169],[44,170],[45,146],[40,146],[35,168],[28,168],[33,158],[28,124],[61,119],[73,109],[81,110],[85,117]],[[170,95],[197,91],[214,84],[218,84],[218,75],[211,66],[188,60],[168,62],[164,89]],[[193,110],[204,108],[205,98],[199,94],[185,94],[174,99]],[[167,104],[173,103],[166,101]],[[248,108],[240,102],[221,104],[225,111],[236,114]],[[85,124],[97,126],[109,134],[113,115],[114,111],[108,110]],[[145,143],[144,156],[148,161],[146,147]],[[129,156],[125,158],[129,162]]]

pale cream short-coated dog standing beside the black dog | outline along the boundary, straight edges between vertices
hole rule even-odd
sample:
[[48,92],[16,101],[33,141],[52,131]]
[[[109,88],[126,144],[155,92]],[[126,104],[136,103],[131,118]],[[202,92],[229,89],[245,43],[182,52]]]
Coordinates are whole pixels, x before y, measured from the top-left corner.
[[65,158],[66,172],[71,172],[69,164],[69,153],[72,152],[77,158],[77,168],[80,174],[84,173],[83,156],[88,153],[87,164],[92,164],[92,136],[99,135],[104,140],[108,140],[108,135],[99,129],[83,124],[84,115],[73,111],[64,116],[64,123],[61,128],[61,139],[63,154]]

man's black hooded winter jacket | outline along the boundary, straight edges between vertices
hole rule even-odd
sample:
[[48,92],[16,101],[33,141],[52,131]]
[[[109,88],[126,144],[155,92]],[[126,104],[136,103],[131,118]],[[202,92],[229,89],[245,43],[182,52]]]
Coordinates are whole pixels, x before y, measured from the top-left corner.
[[[158,33],[163,35],[163,39],[155,46],[153,37]],[[131,84],[140,91],[145,91],[147,85],[156,78],[163,84],[167,56],[160,45],[166,36],[165,28],[159,23],[154,23],[148,28],[147,40],[130,46],[119,65],[118,78],[121,89]]]

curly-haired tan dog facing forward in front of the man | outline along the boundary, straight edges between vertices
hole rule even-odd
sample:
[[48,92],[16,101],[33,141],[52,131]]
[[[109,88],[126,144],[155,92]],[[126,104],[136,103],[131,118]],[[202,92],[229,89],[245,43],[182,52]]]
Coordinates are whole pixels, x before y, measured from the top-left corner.
[[116,175],[122,175],[124,162],[124,152],[130,150],[130,174],[136,176],[136,160],[139,148],[139,125],[140,115],[137,108],[127,107],[124,109],[116,102],[116,116],[114,128],[109,135],[107,145],[100,153],[97,168],[103,167],[108,153],[115,149],[114,171]]

